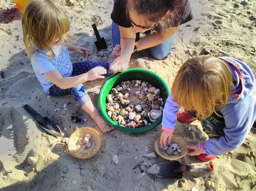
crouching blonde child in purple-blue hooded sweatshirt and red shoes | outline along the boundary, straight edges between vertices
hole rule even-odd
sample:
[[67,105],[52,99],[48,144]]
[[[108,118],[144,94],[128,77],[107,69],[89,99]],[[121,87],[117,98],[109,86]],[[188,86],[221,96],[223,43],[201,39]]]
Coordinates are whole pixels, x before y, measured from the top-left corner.
[[[176,120],[198,119],[209,138],[187,145],[201,161],[242,145],[256,118],[255,78],[245,63],[227,57],[198,56],[182,65],[163,111],[160,144],[172,139]],[[179,108],[185,110],[179,112]],[[178,115],[177,115],[178,114]]]

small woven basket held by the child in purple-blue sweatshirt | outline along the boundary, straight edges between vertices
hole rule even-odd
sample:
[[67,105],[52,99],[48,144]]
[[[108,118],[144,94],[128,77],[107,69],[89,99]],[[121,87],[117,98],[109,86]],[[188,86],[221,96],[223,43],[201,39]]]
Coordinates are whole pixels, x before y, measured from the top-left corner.
[[166,151],[162,150],[159,148],[159,145],[160,145],[160,137],[155,141],[155,150],[156,150],[156,153],[160,156],[162,156],[164,159],[167,159],[167,160],[178,160],[182,157],[184,157],[185,155],[187,155],[187,141],[185,139],[183,139],[183,137],[180,137],[178,135],[172,135],[172,143],[176,143],[179,145],[180,147],[180,150],[182,152],[180,152],[178,155],[168,155],[166,153]]

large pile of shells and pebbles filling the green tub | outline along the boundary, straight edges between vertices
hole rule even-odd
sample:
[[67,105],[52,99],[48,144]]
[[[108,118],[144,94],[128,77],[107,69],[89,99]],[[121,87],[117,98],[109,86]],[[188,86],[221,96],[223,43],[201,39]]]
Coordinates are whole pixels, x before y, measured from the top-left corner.
[[160,89],[141,80],[121,82],[107,96],[108,116],[127,128],[145,127],[162,116]]

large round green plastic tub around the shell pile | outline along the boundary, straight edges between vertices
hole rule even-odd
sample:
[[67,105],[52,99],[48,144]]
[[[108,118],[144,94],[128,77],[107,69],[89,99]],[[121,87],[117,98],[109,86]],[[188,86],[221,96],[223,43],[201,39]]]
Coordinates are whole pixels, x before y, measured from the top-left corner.
[[156,127],[162,122],[163,116],[157,119],[155,123],[140,128],[122,127],[121,125],[116,124],[114,121],[112,121],[112,119],[109,118],[107,113],[107,96],[113,87],[116,87],[117,84],[120,84],[121,82],[125,82],[127,80],[143,80],[145,82],[148,82],[149,84],[153,84],[153,86],[161,90],[161,96],[164,102],[166,102],[166,99],[170,94],[170,89],[167,83],[159,75],[142,68],[131,68],[125,70],[124,72],[119,72],[112,75],[108,80],[105,81],[105,83],[101,87],[98,97],[98,105],[101,115],[109,125],[124,132],[140,133]]

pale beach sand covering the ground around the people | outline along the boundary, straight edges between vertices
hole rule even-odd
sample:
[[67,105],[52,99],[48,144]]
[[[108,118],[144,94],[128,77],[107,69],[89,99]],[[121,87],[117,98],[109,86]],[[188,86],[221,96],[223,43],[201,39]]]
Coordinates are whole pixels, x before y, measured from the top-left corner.
[[[56,1],[57,2],[57,1]],[[60,0],[71,21],[73,34],[80,36],[78,45],[89,48],[90,56],[70,53],[72,62],[97,60],[112,62],[111,52],[112,0]],[[196,55],[230,56],[249,64],[256,76],[256,2],[254,0],[191,0],[194,19],[181,26],[175,34],[171,55],[161,61],[153,60],[147,51],[132,56],[141,58],[149,70],[156,72],[172,86],[178,68]],[[155,164],[166,161],[159,155],[145,159],[144,154],[155,152],[155,140],[160,136],[161,125],[144,133],[125,133],[117,129],[101,133],[100,129],[73,100],[72,95],[47,96],[40,86],[27,59],[22,43],[21,15],[11,0],[0,0],[0,190],[209,190],[206,181],[214,182],[212,190],[256,190],[256,129],[251,129],[243,145],[233,152],[212,160],[214,171],[184,173],[187,183],[182,188],[175,180],[153,180],[147,169],[133,169],[143,160]],[[108,50],[98,52],[91,25],[96,23]],[[100,87],[105,82],[85,83],[94,104]],[[67,107],[64,109],[64,104]],[[29,104],[42,116],[48,116],[59,125],[64,137],[75,127],[92,127],[102,135],[100,151],[90,159],[76,159],[67,152],[62,138],[42,136],[44,130],[23,108]],[[61,108],[60,112],[54,109]],[[69,120],[71,116],[87,119],[84,124]],[[206,140],[198,121],[191,125],[177,124],[175,134],[190,143]],[[148,149],[147,149],[148,148]],[[117,155],[119,162],[113,164]],[[29,165],[28,157],[35,164]],[[201,164],[196,157],[185,156],[183,165]],[[68,168],[68,172],[62,172]]]

